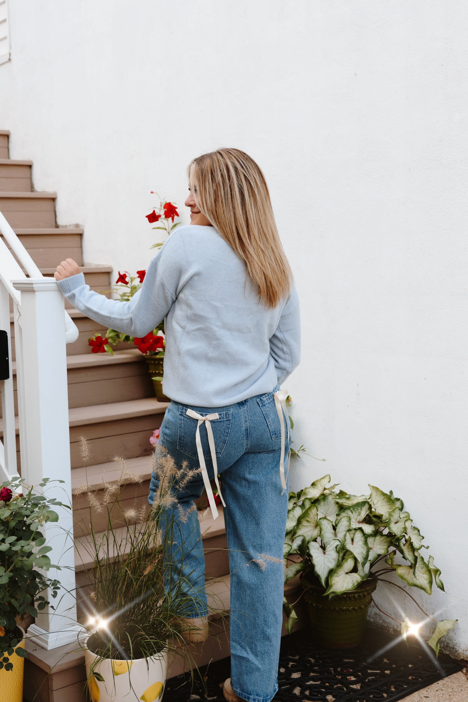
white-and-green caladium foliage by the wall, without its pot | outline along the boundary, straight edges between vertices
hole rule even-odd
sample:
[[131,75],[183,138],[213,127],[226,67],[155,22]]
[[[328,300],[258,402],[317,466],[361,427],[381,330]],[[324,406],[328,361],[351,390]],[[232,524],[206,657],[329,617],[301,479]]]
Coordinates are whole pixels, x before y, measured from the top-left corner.
[[[422,549],[428,548],[422,543],[424,536],[413,526],[400,498],[373,485],[369,485],[369,495],[349,495],[336,491],[337,484],[330,485],[330,481],[330,475],[324,475],[289,494],[283,548],[285,582],[301,571],[312,571],[323,585],[323,595],[331,598],[354,590],[368,578],[382,578],[394,571],[403,583],[427,595],[431,595],[433,583],[444,589],[441,571],[432,556],[424,559]],[[297,616],[286,598],[284,610],[290,633]],[[457,620],[439,622],[426,616],[436,624],[429,645],[437,654],[441,638]],[[401,622],[405,639],[410,626],[408,618]]]

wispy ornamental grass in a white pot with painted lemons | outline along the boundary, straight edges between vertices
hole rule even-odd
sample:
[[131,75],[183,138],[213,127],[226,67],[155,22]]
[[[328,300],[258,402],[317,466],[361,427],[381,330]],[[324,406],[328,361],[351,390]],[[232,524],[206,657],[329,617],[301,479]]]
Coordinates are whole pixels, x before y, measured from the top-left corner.
[[[82,455],[88,453],[82,439]],[[124,482],[139,482],[119,460]],[[152,505],[143,508],[129,508],[121,501],[122,480],[103,484],[99,491],[86,485],[75,491],[86,494],[90,505],[89,535],[81,537],[80,544],[93,561],[88,570],[91,594],[80,604],[88,616],[85,661],[93,702],[161,698],[168,656],[183,652],[185,617],[203,609],[203,589],[199,595],[184,577],[183,564],[180,568],[171,558],[178,548],[175,512],[183,512],[174,491],[183,489],[194,471],[178,470],[171,456],[159,449],[153,472],[159,489]],[[100,533],[93,514],[98,515]]]

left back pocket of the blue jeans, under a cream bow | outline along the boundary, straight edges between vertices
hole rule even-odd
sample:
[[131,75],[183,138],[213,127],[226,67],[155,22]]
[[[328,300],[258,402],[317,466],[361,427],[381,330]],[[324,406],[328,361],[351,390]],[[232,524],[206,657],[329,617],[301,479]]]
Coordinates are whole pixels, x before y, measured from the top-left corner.
[[[200,413],[201,414],[201,413]],[[208,412],[207,414],[211,414]],[[205,416],[203,413],[202,416]],[[215,439],[216,458],[222,455],[225,450],[229,432],[231,431],[232,411],[229,409],[226,412],[218,412],[219,419],[210,419],[210,425],[213,430],[213,438]],[[177,447],[179,451],[185,453],[190,458],[198,458],[196,450],[196,425],[198,420],[187,416],[187,407],[179,407],[179,432],[177,439]],[[204,422],[203,422],[204,424]],[[208,444],[208,435],[206,427],[200,425],[201,447],[203,456],[210,458],[210,446]]]

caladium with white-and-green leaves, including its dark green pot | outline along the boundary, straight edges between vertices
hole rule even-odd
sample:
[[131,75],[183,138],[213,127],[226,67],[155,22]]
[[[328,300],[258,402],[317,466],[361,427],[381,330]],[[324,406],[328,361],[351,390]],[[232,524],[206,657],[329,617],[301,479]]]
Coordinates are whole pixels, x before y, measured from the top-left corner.
[[[324,475],[298,493],[289,494],[285,578],[288,581],[301,574],[318,640],[327,647],[347,648],[361,641],[372,593],[379,581],[395,585],[411,597],[385,576],[394,572],[403,583],[428,595],[434,581],[440,590],[443,583],[433,557],[426,560],[422,556],[422,548],[427,548],[422,544],[424,537],[404,511],[403,501],[392,491],[387,494],[370,485],[370,495],[349,495],[335,491],[337,485],[328,483],[330,475]],[[417,607],[421,609],[419,604]],[[286,599],[284,609],[290,632],[297,617]],[[437,654],[441,638],[456,620],[436,621],[424,614],[436,624],[429,645]],[[417,633],[417,625],[408,617],[399,623],[403,637]]]

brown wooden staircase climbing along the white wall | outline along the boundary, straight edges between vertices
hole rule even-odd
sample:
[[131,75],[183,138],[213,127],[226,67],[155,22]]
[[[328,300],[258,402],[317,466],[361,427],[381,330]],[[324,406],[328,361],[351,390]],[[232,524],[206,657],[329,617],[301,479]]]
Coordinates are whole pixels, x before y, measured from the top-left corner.
[[[71,257],[81,266],[91,289],[107,291],[109,295],[113,283],[112,268],[83,263],[83,230],[57,225],[57,195],[33,190],[32,161],[10,159],[8,137],[8,131],[0,131],[0,211],[44,276],[53,276],[58,263]],[[114,356],[91,353],[88,337],[95,331],[105,331],[105,328],[75,310],[67,300],[65,307],[79,329],[79,338],[67,345],[72,488],[76,490],[88,482],[93,489],[100,489],[103,482],[117,481],[120,470],[113,458],[123,456],[128,470],[142,479],[141,483],[128,482],[123,488],[123,498],[126,506],[138,507],[146,502],[149,491],[152,451],[149,437],[161,425],[167,404],[155,399],[145,360],[133,345],[120,345]],[[11,324],[13,337],[13,319]],[[91,447],[92,465],[86,470],[79,452],[81,436],[88,439]],[[18,430],[17,453],[20,465]],[[76,585],[81,586],[86,570],[91,567],[81,545],[89,533],[86,522],[88,502],[84,496],[74,495],[73,513]],[[206,531],[203,545],[208,598],[216,614],[210,616],[208,642],[203,647],[192,646],[191,654],[197,665],[229,655],[229,562],[224,520],[220,517],[214,522],[211,517],[205,517],[202,531]],[[291,600],[297,597],[297,583],[288,583],[286,595]],[[62,702],[65,699],[67,702],[84,702],[84,657],[76,644],[46,651],[27,642],[27,650],[27,702],[32,702],[33,698],[35,702]],[[171,666],[171,677],[179,675],[182,670],[181,660],[176,659]]]

